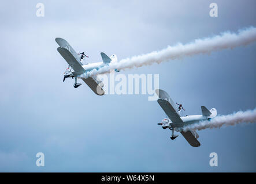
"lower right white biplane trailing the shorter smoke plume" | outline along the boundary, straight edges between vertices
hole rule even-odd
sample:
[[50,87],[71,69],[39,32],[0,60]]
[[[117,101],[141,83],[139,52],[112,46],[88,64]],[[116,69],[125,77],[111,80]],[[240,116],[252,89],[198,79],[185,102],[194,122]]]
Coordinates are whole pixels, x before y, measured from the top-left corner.
[[164,118],[158,125],[162,125],[162,128],[169,128],[172,131],[170,139],[174,140],[179,135],[173,135],[175,131],[180,132],[185,137],[185,140],[192,145],[192,147],[199,147],[198,134],[195,131],[179,131],[179,129],[186,125],[195,124],[199,121],[210,120],[217,116],[217,110],[212,108],[208,110],[205,106],[201,106],[202,115],[180,116],[180,112],[183,108],[176,110],[175,103],[169,97],[168,93],[164,90],[157,89],[155,92],[158,95],[158,104],[164,110],[168,118]]

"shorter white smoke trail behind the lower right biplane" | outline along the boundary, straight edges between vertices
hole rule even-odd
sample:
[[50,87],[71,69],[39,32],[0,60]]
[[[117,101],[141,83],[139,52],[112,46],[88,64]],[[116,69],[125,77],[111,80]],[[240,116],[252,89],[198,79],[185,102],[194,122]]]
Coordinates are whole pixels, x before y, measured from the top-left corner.
[[[200,131],[206,128],[221,128],[224,126],[233,126],[240,123],[253,123],[256,122],[256,109],[247,110],[245,112],[239,111],[233,114],[225,115],[225,116],[217,116],[212,120],[201,121],[198,124],[191,124],[184,128],[183,131]],[[180,129],[181,131],[181,129]]]

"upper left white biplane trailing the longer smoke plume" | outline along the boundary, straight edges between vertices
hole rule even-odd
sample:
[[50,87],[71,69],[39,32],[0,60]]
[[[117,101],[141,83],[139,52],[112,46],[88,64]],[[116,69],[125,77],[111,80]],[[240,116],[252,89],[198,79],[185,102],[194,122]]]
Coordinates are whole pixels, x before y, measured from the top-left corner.
[[[64,72],[63,82],[66,78],[75,78],[75,84],[73,86],[77,88],[81,85],[81,83],[77,83],[77,78],[81,78],[95,94],[105,94],[105,91],[102,89],[103,83],[99,81],[97,77],[90,76],[88,78],[84,78],[83,74],[93,69],[98,70],[109,63],[117,62],[117,56],[112,55],[109,57],[105,53],[101,52],[103,62],[83,64],[82,62],[84,58],[80,58],[79,54],[71,47],[71,45],[69,45],[68,41],[61,38],[56,38],[55,41],[60,45],[60,47],[57,48],[58,52],[60,52],[61,56],[64,57],[66,62],[69,64]],[[118,72],[118,70],[115,71]]]

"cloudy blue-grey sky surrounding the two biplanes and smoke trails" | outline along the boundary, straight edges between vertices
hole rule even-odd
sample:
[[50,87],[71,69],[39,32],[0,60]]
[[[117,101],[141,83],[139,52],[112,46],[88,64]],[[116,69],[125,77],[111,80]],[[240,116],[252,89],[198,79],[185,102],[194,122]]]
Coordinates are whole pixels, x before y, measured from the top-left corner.
[[[36,16],[43,3],[44,17]],[[210,17],[210,3],[218,17]],[[95,95],[63,83],[68,64],[55,37],[87,62],[118,59],[256,26],[255,1],[5,1],[0,9],[1,172],[255,172],[255,124],[198,131],[201,147],[157,125],[165,113],[145,94]],[[183,104],[225,115],[255,108],[256,43],[153,64],[122,74],[159,74]],[[43,152],[44,167],[36,166]],[[218,166],[209,165],[210,153]]]

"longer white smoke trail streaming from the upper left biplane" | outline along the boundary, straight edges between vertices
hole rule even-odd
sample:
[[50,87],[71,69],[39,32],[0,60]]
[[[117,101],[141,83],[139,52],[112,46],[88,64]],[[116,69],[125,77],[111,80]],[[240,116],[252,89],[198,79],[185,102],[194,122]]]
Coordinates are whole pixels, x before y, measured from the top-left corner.
[[210,53],[221,49],[228,49],[247,45],[256,41],[256,28],[244,28],[238,33],[224,32],[218,36],[208,37],[205,39],[196,39],[188,44],[178,43],[175,46],[168,46],[161,51],[153,51],[144,55],[133,56],[122,59],[120,62],[110,63],[109,66],[94,69],[82,75],[88,76],[104,74],[110,70],[124,70],[126,68],[142,67],[153,63],[166,62],[168,60],[180,59],[185,56],[194,56],[199,54]]

